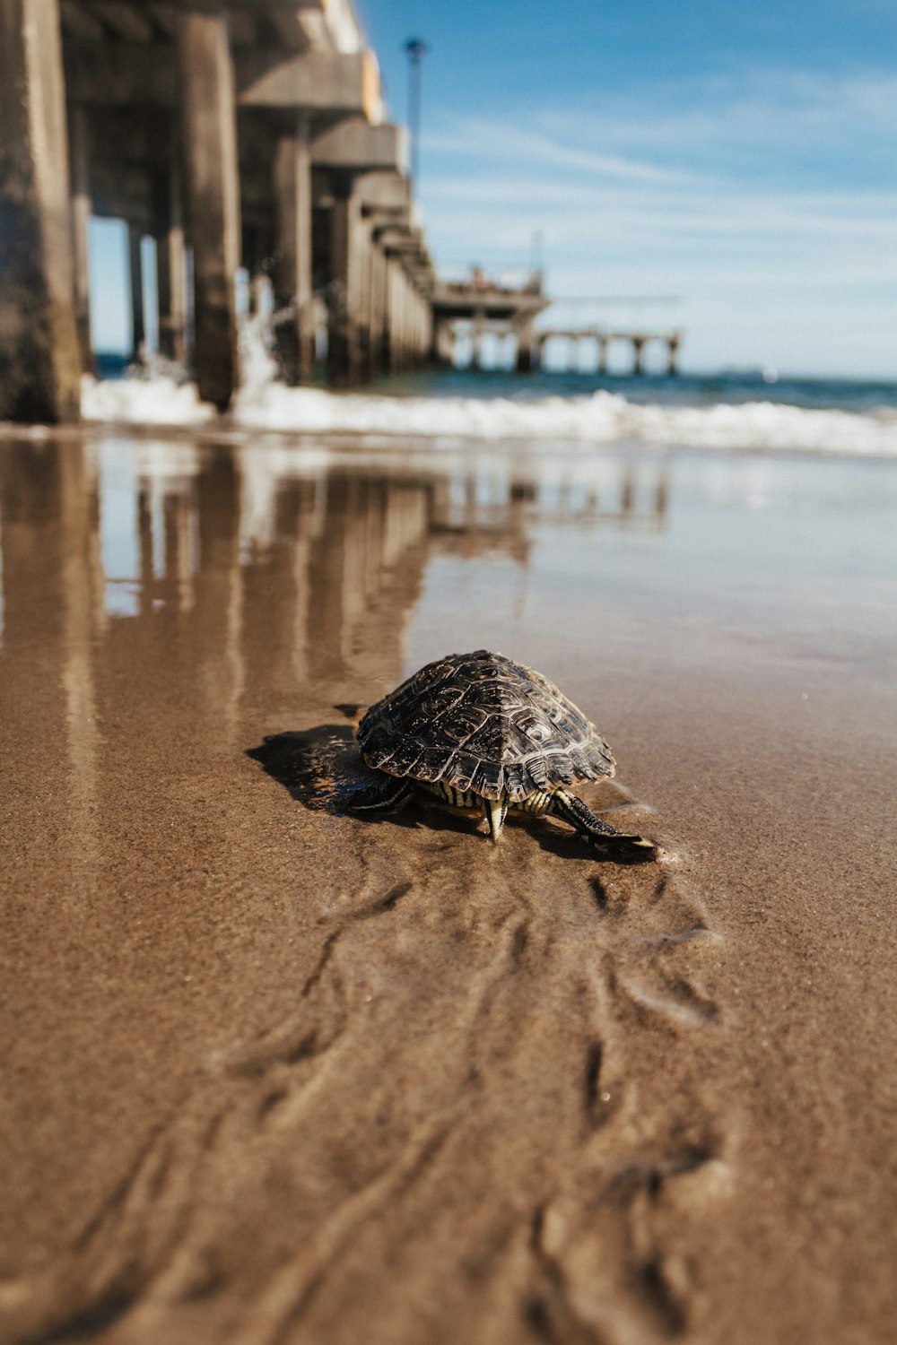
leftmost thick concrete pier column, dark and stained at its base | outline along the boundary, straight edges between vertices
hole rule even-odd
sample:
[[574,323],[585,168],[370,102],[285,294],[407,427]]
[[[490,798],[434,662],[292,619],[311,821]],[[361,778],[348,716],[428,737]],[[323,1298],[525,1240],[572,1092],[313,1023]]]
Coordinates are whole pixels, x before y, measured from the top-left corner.
[[0,420],[78,416],[58,0],[0,0]]

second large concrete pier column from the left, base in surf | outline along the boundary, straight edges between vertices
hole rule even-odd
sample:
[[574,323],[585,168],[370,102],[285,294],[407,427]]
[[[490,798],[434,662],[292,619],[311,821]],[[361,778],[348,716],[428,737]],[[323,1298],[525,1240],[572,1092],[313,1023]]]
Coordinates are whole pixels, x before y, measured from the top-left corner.
[[223,410],[239,382],[237,113],[223,8],[180,16],[178,55],[194,245],[194,364],[199,395]]

